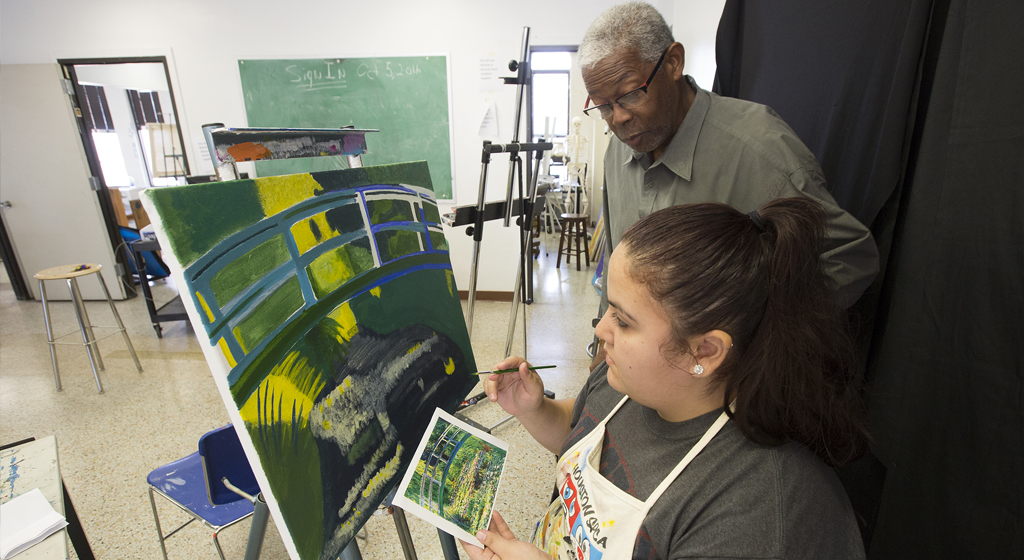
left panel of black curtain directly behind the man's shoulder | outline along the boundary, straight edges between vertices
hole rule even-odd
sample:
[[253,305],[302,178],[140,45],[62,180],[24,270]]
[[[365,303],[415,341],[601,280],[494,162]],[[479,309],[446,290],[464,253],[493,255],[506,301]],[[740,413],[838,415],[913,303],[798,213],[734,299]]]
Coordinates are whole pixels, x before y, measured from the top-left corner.
[[730,0],[714,89],[774,109],[817,157],[836,202],[869,225],[902,174],[931,4]]

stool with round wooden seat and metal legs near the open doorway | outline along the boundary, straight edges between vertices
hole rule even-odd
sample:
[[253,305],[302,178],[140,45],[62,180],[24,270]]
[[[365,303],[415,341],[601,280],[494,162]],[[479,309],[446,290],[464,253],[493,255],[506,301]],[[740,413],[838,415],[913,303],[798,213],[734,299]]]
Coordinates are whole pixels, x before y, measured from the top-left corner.
[[[128,352],[131,354],[132,359],[135,360],[135,369],[139,373],[142,373],[142,365],[138,362],[138,356],[135,355],[135,348],[131,345],[131,340],[128,339],[128,333],[125,331],[125,326],[121,322],[121,315],[118,314],[118,309],[114,307],[114,300],[111,299],[111,293],[106,291],[106,283],[103,282],[103,274],[99,271],[102,268],[99,264],[88,263],[88,264],[66,264],[63,266],[54,266],[53,268],[47,268],[46,270],[40,270],[36,272],[36,279],[39,281],[39,294],[43,298],[43,319],[46,320],[46,339],[50,345],[50,359],[53,361],[53,378],[57,382],[57,391],[60,388],[60,372],[57,370],[57,353],[55,345],[57,344],[75,344],[77,342],[57,342],[57,340],[70,337],[75,333],[69,333],[67,335],[61,335],[59,337],[53,336],[53,326],[50,322],[50,308],[49,302],[46,301],[46,285],[43,281],[54,281],[62,279],[68,282],[68,289],[71,290],[71,299],[75,304],[75,315],[78,317],[78,328],[82,331],[82,345],[85,346],[86,353],[89,354],[89,362],[92,363],[92,376],[96,378],[96,388],[99,392],[103,392],[103,386],[99,383],[99,370],[103,369],[103,358],[99,355],[99,347],[96,346],[96,342],[100,339],[96,338],[93,333],[93,329],[117,329],[121,332],[121,335],[125,338],[125,344],[128,345]],[[78,277],[85,276],[87,274],[96,274],[99,277],[99,286],[103,289],[103,295],[106,296],[106,303],[111,305],[111,312],[114,313],[114,319],[118,321],[117,327],[99,327],[93,326],[89,321],[89,314],[85,310],[85,302],[82,301],[82,292],[78,289]],[[115,333],[111,333],[103,338],[114,336]]]

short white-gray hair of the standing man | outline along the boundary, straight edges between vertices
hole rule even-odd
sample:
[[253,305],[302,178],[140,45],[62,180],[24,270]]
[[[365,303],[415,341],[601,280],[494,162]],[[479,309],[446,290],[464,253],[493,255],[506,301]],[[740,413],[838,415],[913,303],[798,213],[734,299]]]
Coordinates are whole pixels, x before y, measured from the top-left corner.
[[608,56],[634,51],[641,60],[653,64],[674,42],[672,30],[654,6],[627,2],[594,19],[580,43],[577,62],[589,70]]

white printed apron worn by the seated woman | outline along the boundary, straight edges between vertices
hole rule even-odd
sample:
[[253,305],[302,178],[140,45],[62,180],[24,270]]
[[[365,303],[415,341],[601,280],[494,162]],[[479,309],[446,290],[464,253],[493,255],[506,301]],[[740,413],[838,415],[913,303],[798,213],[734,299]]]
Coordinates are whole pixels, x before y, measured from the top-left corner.
[[729,420],[723,411],[647,501],[641,502],[601,476],[599,468],[605,425],[627,399],[623,397],[591,433],[558,460],[558,470],[565,476],[558,486],[559,498],[548,508],[531,539],[534,545],[557,560],[632,558],[647,512]]

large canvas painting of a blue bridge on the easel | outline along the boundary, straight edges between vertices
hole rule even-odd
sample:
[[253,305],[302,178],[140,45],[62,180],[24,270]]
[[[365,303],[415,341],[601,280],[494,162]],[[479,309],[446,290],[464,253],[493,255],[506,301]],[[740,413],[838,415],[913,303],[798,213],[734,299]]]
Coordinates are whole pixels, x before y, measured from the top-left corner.
[[427,164],[143,204],[289,553],[336,558],[476,382]]

